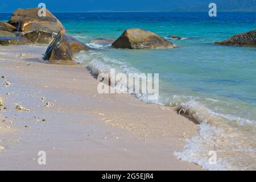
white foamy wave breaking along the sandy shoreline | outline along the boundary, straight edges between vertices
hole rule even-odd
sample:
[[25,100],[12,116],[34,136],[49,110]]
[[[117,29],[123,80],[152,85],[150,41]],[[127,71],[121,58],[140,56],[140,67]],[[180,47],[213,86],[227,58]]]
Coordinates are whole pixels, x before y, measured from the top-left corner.
[[[111,59],[100,51],[81,52],[76,55],[76,60],[84,63],[94,75],[104,73],[110,80],[112,68],[115,68],[116,73],[140,73],[131,65]],[[125,90],[118,81],[112,86]],[[214,112],[198,101],[200,97],[174,95],[171,98],[159,96],[158,100],[149,100],[148,94],[134,93],[134,95],[139,100],[151,104],[175,106],[177,113],[186,114],[200,123],[199,135],[188,139],[183,151],[175,152],[179,159],[197,163],[210,170],[256,169],[254,136],[256,121]],[[212,98],[204,99],[214,103],[221,102]],[[217,154],[216,165],[209,164],[210,151],[215,151]]]

